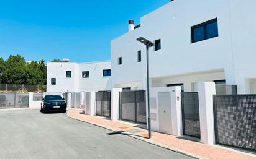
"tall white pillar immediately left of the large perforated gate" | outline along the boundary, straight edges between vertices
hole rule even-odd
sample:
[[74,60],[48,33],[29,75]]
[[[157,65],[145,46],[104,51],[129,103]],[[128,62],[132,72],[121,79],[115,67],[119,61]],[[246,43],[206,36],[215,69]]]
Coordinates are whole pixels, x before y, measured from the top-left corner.
[[199,116],[201,142],[215,144],[213,95],[216,94],[213,82],[198,82]]

